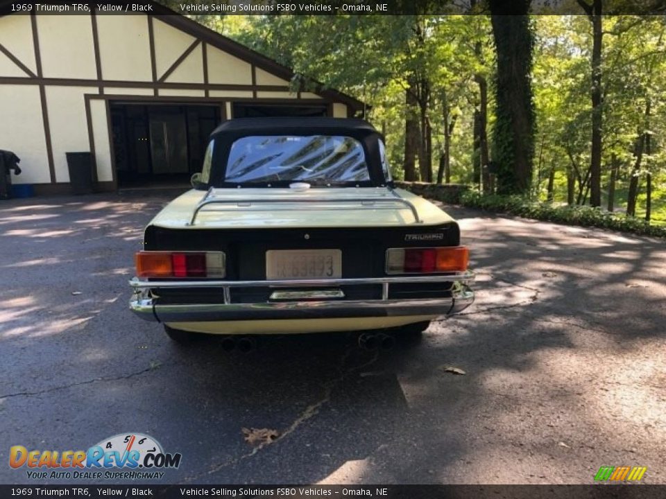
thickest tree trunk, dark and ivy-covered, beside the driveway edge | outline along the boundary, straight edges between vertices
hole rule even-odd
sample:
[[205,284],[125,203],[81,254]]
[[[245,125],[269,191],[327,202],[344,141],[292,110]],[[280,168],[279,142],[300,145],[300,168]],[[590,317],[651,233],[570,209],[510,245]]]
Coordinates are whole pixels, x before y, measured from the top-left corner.
[[519,15],[506,14],[506,3],[490,0],[490,20],[497,51],[497,109],[493,161],[497,192],[528,193],[534,155],[534,106],[531,89],[533,33],[529,1],[513,3]]

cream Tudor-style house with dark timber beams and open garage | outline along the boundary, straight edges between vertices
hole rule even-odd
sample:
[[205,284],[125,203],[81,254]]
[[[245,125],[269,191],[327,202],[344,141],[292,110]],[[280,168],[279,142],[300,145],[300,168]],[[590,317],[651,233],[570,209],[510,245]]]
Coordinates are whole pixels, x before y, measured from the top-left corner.
[[23,170],[12,182],[69,192],[66,152],[92,153],[100,191],[187,182],[221,121],[364,111],[332,89],[292,91],[290,69],[144,3],[153,13],[54,15],[0,0],[0,150]]

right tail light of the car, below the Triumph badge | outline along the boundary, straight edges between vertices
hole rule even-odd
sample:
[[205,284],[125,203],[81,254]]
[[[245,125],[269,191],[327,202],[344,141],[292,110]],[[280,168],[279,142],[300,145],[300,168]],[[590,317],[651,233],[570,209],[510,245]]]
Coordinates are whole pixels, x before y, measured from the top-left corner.
[[467,270],[465,246],[391,248],[386,250],[386,274],[432,274]]

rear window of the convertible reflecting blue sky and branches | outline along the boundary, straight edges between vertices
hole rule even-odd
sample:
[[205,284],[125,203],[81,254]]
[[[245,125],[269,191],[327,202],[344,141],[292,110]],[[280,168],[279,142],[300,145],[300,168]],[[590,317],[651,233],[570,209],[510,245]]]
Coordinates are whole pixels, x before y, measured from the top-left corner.
[[361,143],[337,135],[243,137],[232,144],[225,182],[355,184],[370,172]]

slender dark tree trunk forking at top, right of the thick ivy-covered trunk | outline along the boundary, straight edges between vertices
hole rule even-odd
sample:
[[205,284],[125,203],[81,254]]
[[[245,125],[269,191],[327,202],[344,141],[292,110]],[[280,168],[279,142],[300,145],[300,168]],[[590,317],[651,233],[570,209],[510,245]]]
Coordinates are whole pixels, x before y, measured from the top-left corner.
[[592,0],[588,4],[583,0],[577,0],[585,10],[592,23],[592,150],[590,156],[590,204],[593,207],[601,206],[601,46],[604,30],[601,26],[603,16],[601,14],[601,0]]

